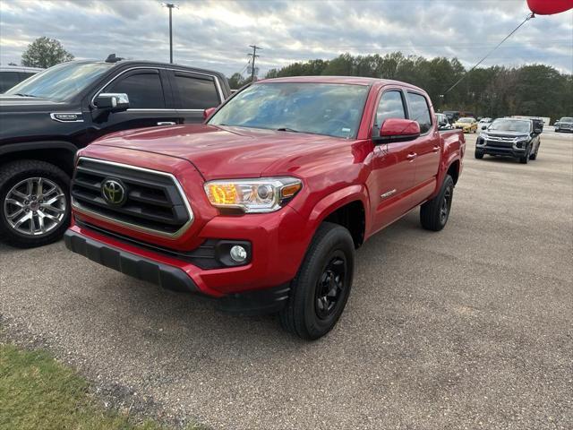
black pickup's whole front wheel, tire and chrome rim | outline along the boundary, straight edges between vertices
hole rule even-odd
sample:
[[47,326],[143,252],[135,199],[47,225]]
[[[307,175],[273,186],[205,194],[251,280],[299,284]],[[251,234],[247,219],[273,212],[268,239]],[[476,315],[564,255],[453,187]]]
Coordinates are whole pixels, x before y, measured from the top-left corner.
[[0,239],[31,248],[58,240],[70,224],[70,178],[45,161],[0,167]]

